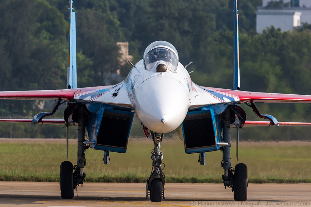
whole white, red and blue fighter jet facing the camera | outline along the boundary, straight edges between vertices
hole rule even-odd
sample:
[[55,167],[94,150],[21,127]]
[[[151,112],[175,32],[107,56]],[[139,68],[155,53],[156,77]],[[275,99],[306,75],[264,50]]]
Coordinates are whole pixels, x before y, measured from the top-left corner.
[[[205,165],[206,152],[221,150],[224,185],[234,192],[234,200],[246,200],[247,166],[239,163],[231,167],[230,129],[236,129],[238,159],[239,129],[243,127],[310,125],[278,122],[272,115],[262,115],[255,103],[311,103],[311,96],[241,91],[238,14],[237,2],[234,2],[233,89],[210,88],[193,83],[186,69],[189,64],[183,66],[176,48],[162,40],[151,43],[142,60],[135,65],[131,63],[132,69],[122,82],[112,86],[77,88],[76,13],[72,10],[73,1],[70,1],[67,89],[1,92],[1,99],[58,101],[52,112],[39,113],[32,120],[1,119],[1,122],[63,124],[67,128],[77,126],[77,164],[73,166],[71,162],[64,161],[60,165],[62,198],[73,198],[73,190],[85,181],[83,168],[86,165],[86,149],[104,151],[104,164],[109,164],[109,152],[126,152],[136,113],[142,123],[142,131],[154,142],[151,157],[153,171],[146,181],[146,197],[150,196],[152,202],[165,198],[161,142],[165,133],[174,130],[184,141],[185,152],[198,153],[202,165]],[[43,119],[53,115],[63,103],[67,104],[63,119]],[[241,104],[247,104],[258,117],[268,121],[247,121]]]

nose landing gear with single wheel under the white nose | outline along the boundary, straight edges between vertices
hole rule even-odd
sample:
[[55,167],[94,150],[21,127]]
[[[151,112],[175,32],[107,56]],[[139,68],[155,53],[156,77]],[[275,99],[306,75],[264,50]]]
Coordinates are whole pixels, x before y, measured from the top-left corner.
[[[162,160],[163,154],[161,152],[161,143],[164,137],[164,133],[154,133],[151,131],[152,140],[154,142],[155,148],[151,150],[151,159],[152,159],[152,173],[147,179],[146,187],[146,198],[148,198],[148,191],[150,191],[150,200],[151,202],[161,202],[162,197],[164,197],[164,184],[165,184],[165,175],[162,172]],[[165,167],[165,165],[164,165]],[[164,168],[163,167],[163,168]]]

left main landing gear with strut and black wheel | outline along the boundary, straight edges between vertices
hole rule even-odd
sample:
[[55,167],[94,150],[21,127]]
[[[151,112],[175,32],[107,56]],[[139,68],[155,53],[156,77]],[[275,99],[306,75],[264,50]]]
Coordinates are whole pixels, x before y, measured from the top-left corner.
[[83,168],[86,165],[85,151],[89,146],[86,146],[83,142],[85,140],[85,122],[86,122],[86,112],[84,108],[79,108],[78,113],[78,151],[77,151],[77,165],[72,166],[69,161],[64,161],[60,165],[60,194],[62,198],[72,199],[73,190],[77,186],[85,181],[85,173]]

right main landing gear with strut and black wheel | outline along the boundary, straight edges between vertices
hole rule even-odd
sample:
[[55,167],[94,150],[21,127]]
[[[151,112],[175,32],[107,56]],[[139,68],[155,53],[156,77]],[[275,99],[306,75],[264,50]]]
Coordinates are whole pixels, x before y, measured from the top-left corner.
[[[224,168],[225,173],[222,176],[224,180],[225,188],[229,187],[234,192],[234,200],[245,201],[247,199],[247,166],[243,163],[235,165],[233,169],[230,162],[230,108],[227,108],[222,113],[223,124],[223,142],[227,142],[229,145],[222,147],[223,160],[221,167]],[[234,172],[234,174],[233,174]]]

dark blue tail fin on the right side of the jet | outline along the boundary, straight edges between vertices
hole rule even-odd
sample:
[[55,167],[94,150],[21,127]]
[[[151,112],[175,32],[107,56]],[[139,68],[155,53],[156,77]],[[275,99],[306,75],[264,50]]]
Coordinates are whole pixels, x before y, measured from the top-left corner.
[[239,21],[237,0],[234,0],[234,63],[233,63],[233,90],[240,90],[239,64]]

